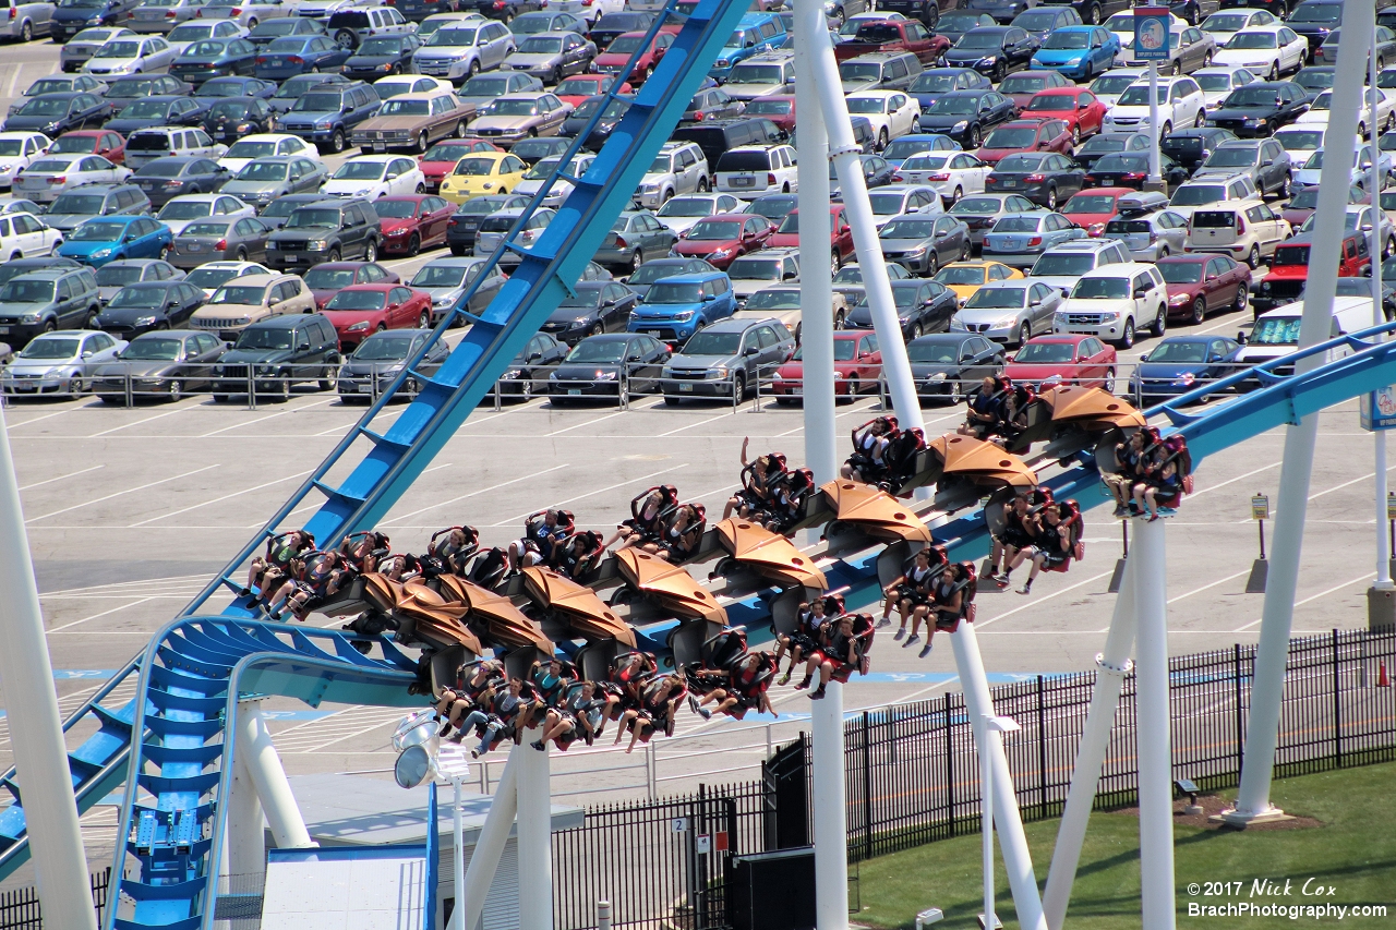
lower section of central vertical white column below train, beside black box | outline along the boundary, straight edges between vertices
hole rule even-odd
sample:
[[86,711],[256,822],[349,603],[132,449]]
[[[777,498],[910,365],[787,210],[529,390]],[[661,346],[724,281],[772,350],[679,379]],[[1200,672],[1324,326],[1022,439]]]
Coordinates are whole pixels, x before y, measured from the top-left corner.
[[[819,15],[824,15],[821,8]],[[843,686],[811,705],[814,730],[814,888],[818,930],[849,927],[849,825],[843,796]]]

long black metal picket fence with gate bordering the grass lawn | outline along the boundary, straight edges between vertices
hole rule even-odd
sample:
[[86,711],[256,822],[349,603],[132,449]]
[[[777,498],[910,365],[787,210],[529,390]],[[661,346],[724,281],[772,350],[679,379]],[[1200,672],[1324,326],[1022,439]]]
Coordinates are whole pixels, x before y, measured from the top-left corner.
[[[1170,660],[1174,778],[1203,790],[1241,772],[1255,647]],[[1386,677],[1383,679],[1383,669]],[[1277,776],[1396,758],[1396,628],[1293,640],[1280,718]],[[1067,802],[1094,673],[1036,677],[993,688],[1023,820],[1055,817]],[[1117,809],[1138,797],[1135,679],[1128,676],[1096,797]],[[979,831],[979,757],[960,694],[868,711],[845,728],[849,859]],[[810,739],[780,747],[759,782],[708,786],[653,803],[592,807],[582,827],[554,834],[556,926],[596,926],[610,901],[616,927],[730,926],[730,856],[810,842]]]

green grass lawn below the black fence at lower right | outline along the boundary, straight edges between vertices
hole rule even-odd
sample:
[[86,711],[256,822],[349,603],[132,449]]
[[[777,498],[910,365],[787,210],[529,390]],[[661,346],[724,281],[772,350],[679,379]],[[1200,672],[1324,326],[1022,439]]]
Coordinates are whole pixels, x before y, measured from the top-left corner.
[[[1234,789],[1223,792],[1234,799]],[[1277,779],[1272,800],[1287,814],[1312,817],[1322,827],[1309,829],[1217,831],[1174,827],[1175,881],[1180,930],[1231,930],[1315,923],[1312,916],[1217,917],[1188,916],[1188,902],[1308,905],[1388,905],[1388,916],[1346,916],[1339,926],[1396,926],[1396,764]],[[1047,881],[1058,821],[1027,824],[1027,843],[1039,885]],[[941,908],[938,927],[977,927],[983,909],[980,838],[960,836],[863,863],[863,910],[854,923],[872,927],[912,927],[916,913]],[[1312,885],[1332,885],[1332,896],[1304,898]],[[1251,898],[1255,878],[1293,880],[1289,896]],[[1240,881],[1244,891],[1230,896],[1189,896],[1189,883]],[[995,878],[1000,920],[1005,930],[1018,927],[1008,878],[1000,862]],[[1325,924],[1339,923],[1335,916]],[[1093,814],[1081,869],[1067,912],[1068,930],[1132,930],[1139,920],[1139,821],[1127,813]]]

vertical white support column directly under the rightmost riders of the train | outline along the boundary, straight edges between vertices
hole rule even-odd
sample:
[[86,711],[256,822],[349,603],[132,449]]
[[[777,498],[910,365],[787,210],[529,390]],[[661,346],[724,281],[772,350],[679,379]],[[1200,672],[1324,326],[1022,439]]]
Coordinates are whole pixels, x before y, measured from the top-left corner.
[[1173,736],[1168,725],[1168,566],[1164,521],[1139,521],[1129,561],[1139,624],[1139,871],[1143,930],[1174,930]]

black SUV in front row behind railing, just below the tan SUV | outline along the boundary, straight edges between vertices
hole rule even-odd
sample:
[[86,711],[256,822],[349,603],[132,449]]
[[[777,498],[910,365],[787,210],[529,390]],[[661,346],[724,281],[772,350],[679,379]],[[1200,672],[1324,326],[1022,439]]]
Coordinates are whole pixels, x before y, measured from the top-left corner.
[[318,381],[321,391],[335,385],[339,339],[335,327],[318,313],[288,313],[251,324],[237,344],[214,366],[214,399],[247,394],[248,371],[257,395],[289,399],[293,384]]

